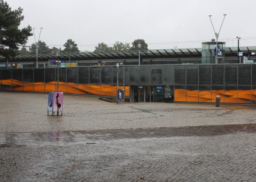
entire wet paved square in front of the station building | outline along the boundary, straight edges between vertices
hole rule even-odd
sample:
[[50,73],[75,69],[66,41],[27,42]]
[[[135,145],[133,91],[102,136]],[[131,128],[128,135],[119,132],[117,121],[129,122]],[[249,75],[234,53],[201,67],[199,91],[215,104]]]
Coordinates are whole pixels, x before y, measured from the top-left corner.
[[0,92],[0,181],[256,181],[255,107]]

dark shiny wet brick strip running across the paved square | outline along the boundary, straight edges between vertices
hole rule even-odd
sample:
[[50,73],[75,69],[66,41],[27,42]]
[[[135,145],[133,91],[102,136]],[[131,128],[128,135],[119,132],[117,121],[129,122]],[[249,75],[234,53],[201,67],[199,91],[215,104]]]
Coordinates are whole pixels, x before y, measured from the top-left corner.
[[63,132],[0,133],[0,147],[63,146],[94,144],[97,141],[125,138],[160,138],[171,136],[215,136],[229,133],[256,133],[256,124],[216,126],[160,127],[139,129],[77,130]]

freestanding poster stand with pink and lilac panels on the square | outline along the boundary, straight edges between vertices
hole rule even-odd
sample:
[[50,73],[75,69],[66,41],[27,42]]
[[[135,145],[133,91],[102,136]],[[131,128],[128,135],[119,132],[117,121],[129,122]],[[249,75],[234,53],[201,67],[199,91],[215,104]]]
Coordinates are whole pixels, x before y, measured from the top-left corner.
[[48,107],[47,107],[47,115],[49,112],[52,112],[52,115],[57,113],[57,116],[61,112],[63,112],[63,92],[49,92],[48,95]]

